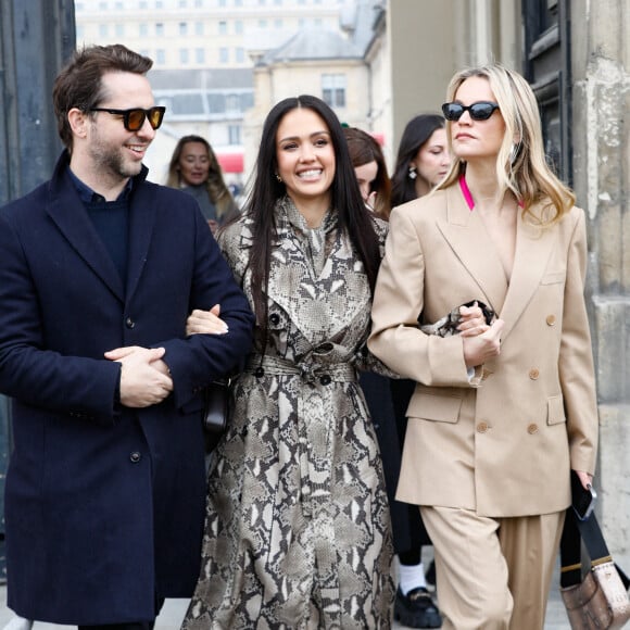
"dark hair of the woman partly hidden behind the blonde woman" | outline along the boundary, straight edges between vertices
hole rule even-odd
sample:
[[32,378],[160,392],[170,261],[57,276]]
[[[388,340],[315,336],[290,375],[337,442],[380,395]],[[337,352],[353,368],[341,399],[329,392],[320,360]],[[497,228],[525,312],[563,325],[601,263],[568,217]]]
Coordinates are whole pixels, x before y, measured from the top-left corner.
[[[445,121],[439,114],[419,114],[407,123],[399,144],[396,165],[391,178],[392,207],[416,199],[416,185],[415,180],[410,177],[410,163],[433,131],[443,128],[444,125]],[[417,176],[421,177],[419,173]],[[428,185],[430,188],[431,182],[429,181]]]

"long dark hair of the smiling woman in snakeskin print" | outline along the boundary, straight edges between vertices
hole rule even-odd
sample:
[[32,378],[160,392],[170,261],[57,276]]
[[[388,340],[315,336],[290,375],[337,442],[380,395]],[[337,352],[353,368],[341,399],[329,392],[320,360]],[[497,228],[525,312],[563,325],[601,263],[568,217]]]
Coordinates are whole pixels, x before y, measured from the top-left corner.
[[[338,215],[339,229],[344,231],[364,265],[374,291],[380,263],[378,237],[373,218],[365,207],[354,168],[348,153],[343,128],[335,112],[320,99],[310,94],[291,97],[277,103],[267,114],[263,125],[261,147],[256,160],[254,184],[251,188],[244,212],[253,219],[254,242],[250,253],[252,270],[252,297],[254,312],[261,326],[266,328],[267,285],[272,249],[276,236],[274,207],[287,193],[285,184],[276,177],[278,161],[276,135],[282,118],[292,110],[306,108],[315,112],[326,123],[335,149],[335,179],[330,187],[330,201]],[[265,335],[266,338],[266,335]]]

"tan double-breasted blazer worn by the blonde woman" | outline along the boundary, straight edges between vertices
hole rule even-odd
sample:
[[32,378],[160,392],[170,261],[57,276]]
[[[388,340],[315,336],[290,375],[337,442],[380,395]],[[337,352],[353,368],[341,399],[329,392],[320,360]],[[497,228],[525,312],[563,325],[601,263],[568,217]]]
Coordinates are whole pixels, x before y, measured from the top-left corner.
[[[536,211],[537,209],[534,209]],[[503,517],[568,506],[569,468],[594,471],[597,411],[583,298],[585,220],[541,229],[519,212],[509,285],[458,186],[394,210],[371,352],[418,381],[398,499]],[[469,381],[459,336],[417,327],[481,300],[505,320],[501,354]]]

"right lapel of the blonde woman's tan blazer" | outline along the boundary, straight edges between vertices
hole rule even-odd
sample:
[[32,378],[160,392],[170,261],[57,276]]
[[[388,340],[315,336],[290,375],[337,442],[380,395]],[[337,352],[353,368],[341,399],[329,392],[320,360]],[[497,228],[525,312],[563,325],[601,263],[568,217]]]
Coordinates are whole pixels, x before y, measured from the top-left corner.
[[[537,214],[536,207],[533,213]],[[516,254],[509,289],[503,308],[497,312],[505,322],[502,339],[509,335],[539,287],[557,238],[556,229],[543,229],[524,220],[522,212],[518,213],[516,225]]]

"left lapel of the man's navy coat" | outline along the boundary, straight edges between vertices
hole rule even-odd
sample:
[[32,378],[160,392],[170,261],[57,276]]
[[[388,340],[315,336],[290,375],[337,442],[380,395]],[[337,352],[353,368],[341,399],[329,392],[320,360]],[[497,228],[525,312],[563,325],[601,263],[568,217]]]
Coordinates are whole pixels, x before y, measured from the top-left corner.
[[51,197],[48,214],[71,247],[112,293],[124,301],[123,280],[72,185]]

